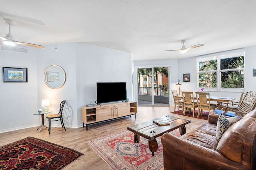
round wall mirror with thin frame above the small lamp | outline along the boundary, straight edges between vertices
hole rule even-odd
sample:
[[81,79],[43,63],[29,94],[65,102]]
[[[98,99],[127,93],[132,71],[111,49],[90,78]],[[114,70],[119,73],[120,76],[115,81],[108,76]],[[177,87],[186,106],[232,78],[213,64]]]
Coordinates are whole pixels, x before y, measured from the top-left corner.
[[51,65],[44,72],[44,82],[50,88],[61,88],[66,82],[66,73],[61,66]]

